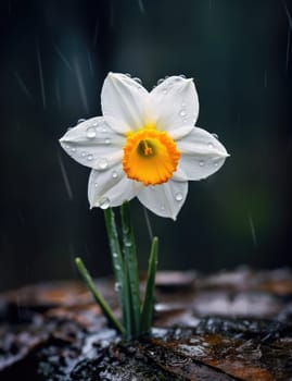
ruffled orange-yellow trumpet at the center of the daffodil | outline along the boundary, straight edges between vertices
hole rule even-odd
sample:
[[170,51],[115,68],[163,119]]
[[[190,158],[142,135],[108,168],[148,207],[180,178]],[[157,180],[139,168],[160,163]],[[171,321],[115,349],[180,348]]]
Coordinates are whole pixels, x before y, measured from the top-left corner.
[[130,133],[124,146],[123,168],[129,179],[144,185],[167,182],[177,169],[180,152],[165,132],[142,128]]

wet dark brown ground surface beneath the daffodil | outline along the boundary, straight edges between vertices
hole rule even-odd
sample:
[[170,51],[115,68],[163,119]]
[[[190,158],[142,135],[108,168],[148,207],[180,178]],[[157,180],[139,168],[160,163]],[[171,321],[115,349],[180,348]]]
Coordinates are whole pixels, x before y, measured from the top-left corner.
[[[112,282],[97,283],[118,315]],[[130,343],[80,283],[2,294],[0,380],[20,379],[292,380],[292,273],[161,272],[152,333]]]

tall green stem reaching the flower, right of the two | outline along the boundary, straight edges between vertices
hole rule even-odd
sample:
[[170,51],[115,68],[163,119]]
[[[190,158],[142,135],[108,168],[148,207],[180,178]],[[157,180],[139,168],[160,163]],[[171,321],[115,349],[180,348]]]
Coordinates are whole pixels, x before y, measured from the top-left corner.
[[138,263],[136,256],[136,245],[134,230],[130,221],[129,202],[126,201],[120,207],[122,230],[123,230],[123,251],[125,260],[125,271],[128,278],[128,290],[130,292],[130,335],[138,337],[140,333],[140,286],[138,276]]

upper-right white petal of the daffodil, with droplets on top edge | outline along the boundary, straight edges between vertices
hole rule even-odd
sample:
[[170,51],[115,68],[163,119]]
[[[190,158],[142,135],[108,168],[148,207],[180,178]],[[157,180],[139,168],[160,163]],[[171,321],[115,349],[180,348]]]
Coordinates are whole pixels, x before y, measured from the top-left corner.
[[175,138],[176,128],[193,126],[199,114],[199,100],[193,81],[170,76],[150,94],[156,127]]

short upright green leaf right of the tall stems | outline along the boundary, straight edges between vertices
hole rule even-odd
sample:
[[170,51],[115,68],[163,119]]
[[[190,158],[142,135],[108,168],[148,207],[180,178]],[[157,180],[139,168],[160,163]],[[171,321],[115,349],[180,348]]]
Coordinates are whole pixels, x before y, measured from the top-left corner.
[[151,329],[154,306],[155,275],[157,269],[157,251],[158,238],[154,237],[149,257],[145,295],[141,312],[141,333],[148,333]]

